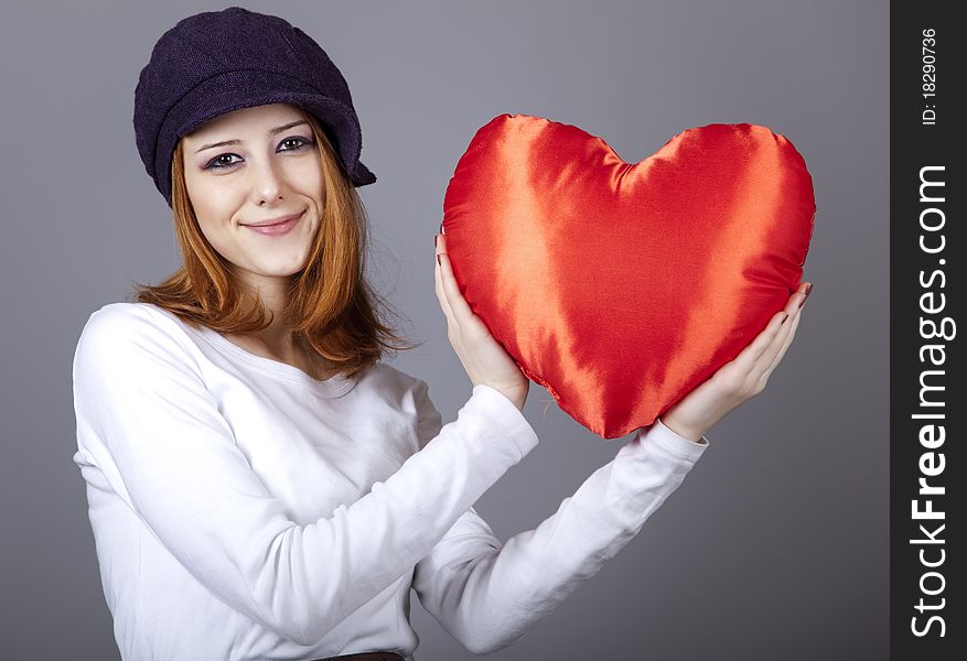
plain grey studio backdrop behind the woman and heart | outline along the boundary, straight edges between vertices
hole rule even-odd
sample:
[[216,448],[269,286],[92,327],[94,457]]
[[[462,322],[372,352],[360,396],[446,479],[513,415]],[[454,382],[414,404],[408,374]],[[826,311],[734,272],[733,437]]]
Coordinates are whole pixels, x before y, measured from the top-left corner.
[[[769,388],[642,533],[495,659],[882,659],[887,650],[888,2],[255,2],[350,82],[379,181],[374,281],[425,339],[395,365],[444,419],[470,394],[432,288],[443,193],[501,112],[565,121],[626,161],[711,122],[762,123],[809,165],[815,293]],[[87,316],[178,263],[138,160],[138,72],[179,19],[225,2],[6,2],[0,20],[2,614],[10,658],[115,659],[75,448]],[[632,264],[628,264],[632,268]],[[479,502],[537,525],[620,443],[534,387],[540,445]],[[423,661],[470,658],[413,599]]]

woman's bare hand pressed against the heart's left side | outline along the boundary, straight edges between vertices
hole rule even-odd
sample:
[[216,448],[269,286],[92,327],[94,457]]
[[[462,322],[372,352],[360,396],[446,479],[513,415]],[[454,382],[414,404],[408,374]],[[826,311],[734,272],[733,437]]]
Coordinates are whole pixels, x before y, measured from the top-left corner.
[[433,278],[437,282],[437,299],[447,317],[447,339],[456,351],[471,383],[494,388],[523,411],[530,380],[491,335],[460,293],[460,286],[450,268],[445,236],[438,234],[434,241],[437,266]]

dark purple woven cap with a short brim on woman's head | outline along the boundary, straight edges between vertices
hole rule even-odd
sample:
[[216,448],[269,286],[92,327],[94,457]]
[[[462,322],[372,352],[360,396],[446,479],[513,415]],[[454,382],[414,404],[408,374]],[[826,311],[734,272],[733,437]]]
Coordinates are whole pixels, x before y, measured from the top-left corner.
[[168,205],[182,136],[224,112],[277,102],[315,116],[354,186],[376,181],[359,162],[363,133],[350,87],[304,32],[278,17],[229,7],[182,19],[162,34],[135,89],[135,137]]

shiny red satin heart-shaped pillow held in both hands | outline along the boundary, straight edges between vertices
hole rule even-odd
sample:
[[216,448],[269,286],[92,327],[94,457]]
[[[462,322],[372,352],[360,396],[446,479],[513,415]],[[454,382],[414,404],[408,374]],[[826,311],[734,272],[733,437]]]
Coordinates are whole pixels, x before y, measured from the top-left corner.
[[443,228],[494,337],[614,438],[653,424],[782,308],[815,210],[803,158],[764,127],[688,129],[630,164],[576,127],[502,115],[460,159]]

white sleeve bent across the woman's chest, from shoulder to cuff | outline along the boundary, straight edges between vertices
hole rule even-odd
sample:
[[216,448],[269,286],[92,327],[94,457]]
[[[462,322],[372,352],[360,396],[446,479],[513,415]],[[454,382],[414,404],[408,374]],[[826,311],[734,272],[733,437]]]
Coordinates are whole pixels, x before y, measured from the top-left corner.
[[74,356],[79,452],[200,583],[301,644],[410,575],[537,444],[507,398],[477,386],[397,473],[297,524],[236,445],[183,329],[110,307],[92,315]]

